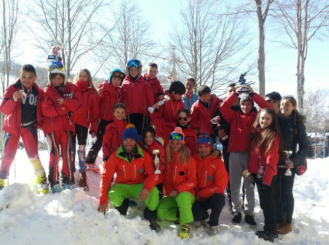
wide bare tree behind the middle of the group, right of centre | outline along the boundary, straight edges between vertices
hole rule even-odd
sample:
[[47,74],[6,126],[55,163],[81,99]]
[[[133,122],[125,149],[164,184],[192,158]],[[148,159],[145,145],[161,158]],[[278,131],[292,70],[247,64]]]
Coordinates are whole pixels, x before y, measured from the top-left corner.
[[[220,13],[218,1],[189,0],[180,9],[181,19],[173,24],[167,52],[186,77],[212,90],[236,79],[237,68],[246,63],[249,52],[243,20],[238,15]],[[244,64],[245,65],[245,64]],[[245,71],[244,71],[245,72]]]

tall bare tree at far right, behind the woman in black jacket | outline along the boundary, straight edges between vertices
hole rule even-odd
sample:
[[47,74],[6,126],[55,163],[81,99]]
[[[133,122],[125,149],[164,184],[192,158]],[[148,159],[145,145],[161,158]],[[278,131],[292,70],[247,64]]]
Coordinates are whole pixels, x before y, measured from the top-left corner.
[[[298,110],[304,111],[305,61],[308,43],[312,38],[320,37],[323,27],[328,26],[329,2],[318,0],[276,1],[277,19],[288,35],[286,47],[297,50],[297,98]],[[324,28],[325,29],[325,28]],[[326,29],[325,29],[326,30]]]

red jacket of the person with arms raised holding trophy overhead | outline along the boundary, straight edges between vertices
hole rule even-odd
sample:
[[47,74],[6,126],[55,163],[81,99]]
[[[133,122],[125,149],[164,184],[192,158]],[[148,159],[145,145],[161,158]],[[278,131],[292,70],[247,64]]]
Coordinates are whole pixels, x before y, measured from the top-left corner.
[[[257,112],[251,111],[248,114],[235,112],[231,109],[232,103],[237,95],[231,93],[221,104],[220,112],[224,119],[231,125],[230,137],[228,141],[228,152],[247,152],[249,146],[249,136]],[[263,99],[259,94],[254,93],[252,99],[258,104],[260,109],[272,108],[271,104]]]

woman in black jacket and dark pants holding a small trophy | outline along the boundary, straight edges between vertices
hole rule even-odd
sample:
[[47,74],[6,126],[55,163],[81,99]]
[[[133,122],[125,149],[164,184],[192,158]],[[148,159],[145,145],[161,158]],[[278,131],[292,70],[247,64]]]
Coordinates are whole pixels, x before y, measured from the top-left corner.
[[282,149],[290,161],[284,157],[278,163],[274,193],[278,232],[287,234],[292,230],[291,221],[294,208],[292,188],[296,174],[294,167],[300,164],[306,157],[309,144],[304,125],[305,117],[296,110],[296,100],[291,95],[283,96],[280,102],[280,110],[282,116],[279,117],[279,125],[284,143]]

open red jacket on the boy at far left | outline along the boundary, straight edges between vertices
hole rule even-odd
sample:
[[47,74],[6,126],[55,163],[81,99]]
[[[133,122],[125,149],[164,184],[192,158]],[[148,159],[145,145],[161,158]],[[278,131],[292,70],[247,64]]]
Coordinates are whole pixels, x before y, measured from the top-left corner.
[[[17,80],[13,85],[10,85],[3,96],[3,100],[0,105],[0,110],[5,114],[4,125],[2,130],[8,132],[12,135],[19,136],[21,134],[21,98],[17,102],[13,100],[13,93],[21,90],[21,87],[15,88],[14,86],[20,83]],[[42,97],[43,90],[38,87],[36,83],[32,85],[35,87],[39,94],[35,98],[37,101]],[[17,87],[17,86],[16,86]],[[42,126],[42,115],[40,103],[37,102],[37,122],[35,123],[36,128],[41,128]]]

